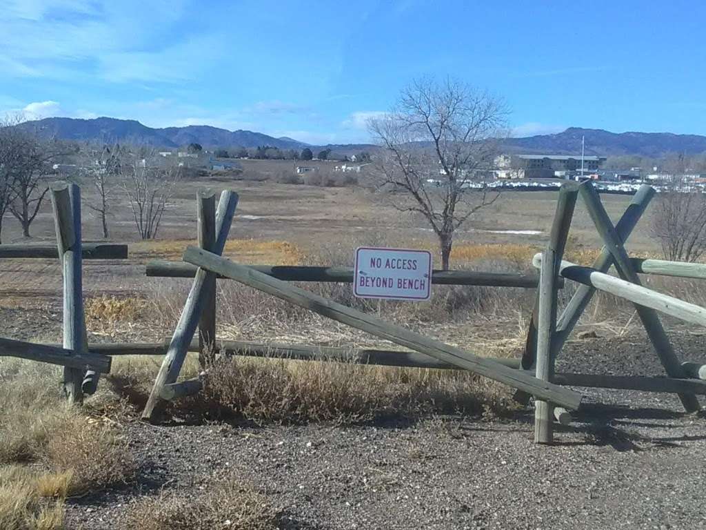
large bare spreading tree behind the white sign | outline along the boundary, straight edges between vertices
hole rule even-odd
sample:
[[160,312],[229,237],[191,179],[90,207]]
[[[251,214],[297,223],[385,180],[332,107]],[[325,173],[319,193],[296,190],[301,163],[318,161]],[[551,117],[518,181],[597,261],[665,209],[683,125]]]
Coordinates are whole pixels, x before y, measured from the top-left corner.
[[504,136],[503,101],[459,81],[425,78],[402,90],[397,106],[369,122],[383,147],[378,186],[393,206],[420,213],[436,233],[448,270],[453,234],[498,198],[484,182]]

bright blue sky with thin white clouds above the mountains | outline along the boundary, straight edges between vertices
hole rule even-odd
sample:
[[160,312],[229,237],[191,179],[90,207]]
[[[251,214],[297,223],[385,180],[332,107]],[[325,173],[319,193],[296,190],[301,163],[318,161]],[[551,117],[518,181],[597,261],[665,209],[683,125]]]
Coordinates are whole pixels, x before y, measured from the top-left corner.
[[706,134],[706,2],[4,0],[0,114],[366,141],[418,76],[505,98],[518,136]]

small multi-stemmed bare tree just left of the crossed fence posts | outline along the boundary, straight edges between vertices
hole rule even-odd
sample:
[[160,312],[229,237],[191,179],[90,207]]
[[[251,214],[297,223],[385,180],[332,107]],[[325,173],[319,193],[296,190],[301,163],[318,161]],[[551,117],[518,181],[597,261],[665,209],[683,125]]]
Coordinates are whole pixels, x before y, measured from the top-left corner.
[[135,225],[143,240],[157,237],[167,202],[181,176],[181,167],[157,160],[154,153],[140,150],[121,165],[125,190]]

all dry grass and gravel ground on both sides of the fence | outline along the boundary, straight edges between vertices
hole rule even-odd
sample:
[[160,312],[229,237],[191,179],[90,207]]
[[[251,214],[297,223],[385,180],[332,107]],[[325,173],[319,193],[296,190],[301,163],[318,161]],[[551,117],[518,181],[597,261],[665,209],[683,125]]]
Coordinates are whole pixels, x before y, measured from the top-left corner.
[[[357,245],[435,249],[421,220],[364,189],[185,182],[155,241],[138,241],[126,204],[116,205],[111,239],[130,243],[130,254],[84,263],[90,341],[171,336],[191,281],[146,278],[145,263],[180,259],[195,240],[196,190],[227,185],[240,195],[224,253],[236,261],[349,266]],[[88,184],[83,192],[90,201]],[[630,198],[603,200],[616,220]],[[553,192],[503,194],[459,232],[452,266],[529,271],[555,206]],[[631,254],[658,255],[649,221],[648,210]],[[99,230],[84,208],[84,239],[98,240]],[[32,235],[55,241],[49,204]],[[22,240],[8,218],[4,242],[13,241]],[[598,246],[579,201],[568,257],[591,261]],[[649,281],[705,303],[698,281]],[[534,300],[533,290],[436,286],[430,302],[378,303],[355,299],[349,285],[305,287],[493,357],[521,354]],[[567,282],[562,303],[574,289]],[[217,300],[221,338],[390,347],[234,282],[219,281]],[[706,334],[665,322],[681,359],[706,362]],[[662,375],[626,302],[597,296],[577,331],[593,333],[568,342],[559,370]],[[2,260],[0,336],[61,340],[55,260]],[[706,476],[695,464],[706,425],[681,413],[676,396],[584,389],[585,406],[561,428],[556,447],[537,447],[531,409],[515,404],[503,385],[465,372],[237,358],[210,366],[207,391],[147,425],[138,413],[160,362],[115,358],[98,394],[72,410],[59,399],[59,370],[0,360],[1,529],[706,526]],[[190,355],[182,375],[198,370]]]

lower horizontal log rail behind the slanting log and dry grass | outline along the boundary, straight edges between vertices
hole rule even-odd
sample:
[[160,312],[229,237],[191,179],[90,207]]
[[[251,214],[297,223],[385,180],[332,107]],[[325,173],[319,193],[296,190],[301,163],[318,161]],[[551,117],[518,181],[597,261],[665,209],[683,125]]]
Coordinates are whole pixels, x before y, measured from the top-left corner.
[[[169,341],[164,343],[91,343],[89,351],[103,355],[164,355]],[[197,341],[191,341],[189,351],[199,351]],[[241,341],[215,342],[215,351],[221,355],[242,357],[283,358],[292,360],[331,360],[363,365],[431,368],[433,370],[457,370],[450,363],[443,363],[429,355],[416,351],[379,350],[376,348],[342,348],[334,346],[311,346],[308,344],[253,343]],[[520,367],[516,358],[490,358],[510,368]]]

